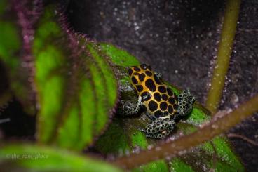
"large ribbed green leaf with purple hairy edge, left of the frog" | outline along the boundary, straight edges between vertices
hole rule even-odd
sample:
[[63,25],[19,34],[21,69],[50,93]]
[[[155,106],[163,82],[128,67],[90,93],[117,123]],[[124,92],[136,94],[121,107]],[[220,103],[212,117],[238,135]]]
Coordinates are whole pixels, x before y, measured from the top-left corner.
[[39,143],[82,150],[109,123],[117,83],[100,47],[60,27],[56,17],[46,7],[33,43]]

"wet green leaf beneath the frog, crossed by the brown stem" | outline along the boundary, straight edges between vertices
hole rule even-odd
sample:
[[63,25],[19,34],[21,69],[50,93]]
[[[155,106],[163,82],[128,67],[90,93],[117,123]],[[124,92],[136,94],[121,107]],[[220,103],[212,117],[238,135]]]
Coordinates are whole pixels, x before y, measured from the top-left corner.
[[[111,44],[101,44],[104,47],[104,53],[114,58],[116,62],[119,53],[118,48],[111,46]],[[115,53],[116,55],[112,56]],[[124,53],[122,51],[122,54]],[[126,55],[125,55],[126,57]],[[133,60],[132,55],[127,55],[123,63],[116,62],[119,79],[123,87],[128,86],[129,80],[127,77],[127,70],[125,64],[139,65],[137,60]],[[126,61],[128,59],[128,61]],[[135,58],[136,59],[136,58]],[[167,83],[170,88],[178,95],[179,88]],[[121,98],[130,98],[135,96],[133,91],[121,91]],[[175,133],[172,138],[177,138],[182,133],[184,135],[192,133],[198,129],[198,126],[210,120],[210,112],[202,107],[198,102],[194,105],[194,110],[191,114],[182,119],[177,124]],[[147,149],[149,145],[155,146],[159,140],[145,138],[145,135],[140,132],[140,128],[147,125],[146,117],[121,117],[116,115],[111,126],[104,135],[97,141],[95,148],[103,154],[128,154],[128,152],[137,152],[141,149]],[[111,139],[109,139],[111,138]],[[107,144],[107,142],[110,142]],[[104,147],[104,148],[103,148]],[[168,157],[169,159],[169,157]],[[133,171],[207,171],[214,169],[215,171],[244,171],[243,165],[236,154],[231,150],[231,146],[227,143],[226,138],[217,137],[208,143],[200,145],[193,150],[179,156],[170,161],[159,160],[152,163],[140,166],[133,169]]]

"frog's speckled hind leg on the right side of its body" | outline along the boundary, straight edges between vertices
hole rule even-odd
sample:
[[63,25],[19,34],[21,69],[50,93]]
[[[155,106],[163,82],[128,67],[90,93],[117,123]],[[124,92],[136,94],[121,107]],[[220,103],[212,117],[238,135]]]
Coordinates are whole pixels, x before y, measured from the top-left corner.
[[178,113],[179,116],[186,116],[194,107],[195,98],[189,90],[184,90],[178,95]]

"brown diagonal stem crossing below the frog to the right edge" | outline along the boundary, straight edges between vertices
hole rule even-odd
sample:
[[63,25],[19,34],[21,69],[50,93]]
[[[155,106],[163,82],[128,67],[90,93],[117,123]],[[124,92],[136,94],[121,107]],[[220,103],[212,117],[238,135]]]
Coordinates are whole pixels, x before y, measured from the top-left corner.
[[150,161],[164,159],[165,157],[171,157],[172,155],[175,156],[182,151],[189,150],[191,147],[211,140],[216,135],[224,133],[224,131],[235,126],[254,112],[258,112],[257,105],[258,95],[243,103],[243,105],[240,105],[240,107],[229,114],[225,114],[223,117],[217,118],[217,120],[202,126],[194,133],[184,135],[167,143],[161,143],[149,150],[142,150],[138,154],[131,154],[129,157],[118,158],[114,161],[114,164],[121,166],[122,168],[135,168],[142,164],[147,164]]

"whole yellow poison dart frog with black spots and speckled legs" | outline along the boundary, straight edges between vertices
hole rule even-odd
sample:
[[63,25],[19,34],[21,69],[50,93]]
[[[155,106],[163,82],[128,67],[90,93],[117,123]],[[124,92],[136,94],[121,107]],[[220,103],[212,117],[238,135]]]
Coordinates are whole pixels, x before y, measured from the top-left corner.
[[175,128],[175,119],[191,112],[194,96],[189,90],[175,95],[164,84],[161,75],[152,71],[149,65],[129,67],[128,74],[138,99],[136,103],[123,102],[121,112],[125,115],[136,114],[140,107],[144,107],[144,114],[151,121],[142,132],[147,138],[166,138]]

